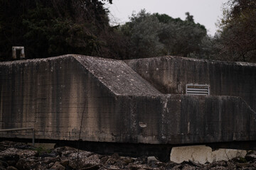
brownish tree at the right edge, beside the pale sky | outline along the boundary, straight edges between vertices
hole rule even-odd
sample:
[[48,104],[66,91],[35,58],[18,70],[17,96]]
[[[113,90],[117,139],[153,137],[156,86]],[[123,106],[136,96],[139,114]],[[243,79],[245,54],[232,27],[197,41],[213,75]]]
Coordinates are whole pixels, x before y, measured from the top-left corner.
[[256,1],[230,0],[220,21],[220,57],[256,62]]

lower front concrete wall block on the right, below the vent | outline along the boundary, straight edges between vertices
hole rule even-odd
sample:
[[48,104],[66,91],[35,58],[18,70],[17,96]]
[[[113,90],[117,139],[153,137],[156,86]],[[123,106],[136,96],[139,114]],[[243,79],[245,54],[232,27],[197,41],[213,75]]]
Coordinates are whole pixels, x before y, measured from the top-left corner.
[[[255,140],[255,112],[239,97],[166,95],[118,99],[129,142],[192,144]],[[127,103],[123,106],[123,103]],[[125,125],[125,124],[124,124]]]

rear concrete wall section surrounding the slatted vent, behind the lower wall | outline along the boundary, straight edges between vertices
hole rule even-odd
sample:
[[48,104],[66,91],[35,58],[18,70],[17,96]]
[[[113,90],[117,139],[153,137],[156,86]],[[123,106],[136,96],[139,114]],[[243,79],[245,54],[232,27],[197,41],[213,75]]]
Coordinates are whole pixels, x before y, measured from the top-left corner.
[[186,94],[186,84],[209,84],[210,95],[240,96],[256,111],[256,64],[185,57],[154,57],[126,62],[164,94]]

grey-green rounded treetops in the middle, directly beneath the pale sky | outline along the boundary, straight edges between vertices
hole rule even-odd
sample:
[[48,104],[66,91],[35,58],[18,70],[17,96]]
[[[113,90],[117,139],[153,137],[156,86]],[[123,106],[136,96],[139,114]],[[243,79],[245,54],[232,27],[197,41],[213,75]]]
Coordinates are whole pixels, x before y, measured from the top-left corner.
[[206,28],[194,23],[193,16],[186,13],[186,21],[171,18],[166,14],[132,14],[130,22],[121,30],[129,40],[129,55],[132,57],[156,57],[199,55],[201,42],[206,37]]

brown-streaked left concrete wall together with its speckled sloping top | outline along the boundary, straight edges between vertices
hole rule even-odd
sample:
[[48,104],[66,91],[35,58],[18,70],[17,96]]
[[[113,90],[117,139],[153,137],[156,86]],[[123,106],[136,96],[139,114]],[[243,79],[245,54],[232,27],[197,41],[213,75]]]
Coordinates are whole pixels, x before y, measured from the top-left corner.
[[[1,129],[33,127],[36,138],[78,140],[82,123],[82,140],[122,141],[123,111],[114,108],[117,95],[159,91],[137,74],[134,77],[134,71],[126,64],[122,67],[122,62],[84,59],[65,56],[1,63]],[[2,132],[1,137],[30,134]]]

